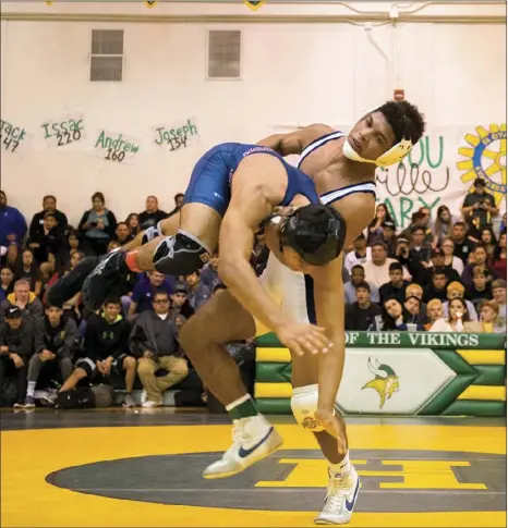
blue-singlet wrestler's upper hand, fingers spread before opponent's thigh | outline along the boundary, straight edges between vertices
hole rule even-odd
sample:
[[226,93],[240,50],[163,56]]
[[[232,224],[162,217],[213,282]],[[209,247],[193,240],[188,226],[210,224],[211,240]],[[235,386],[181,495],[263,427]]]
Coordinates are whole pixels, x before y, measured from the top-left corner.
[[325,329],[315,324],[289,322],[277,329],[276,334],[280,342],[298,356],[326,354],[332,346]]

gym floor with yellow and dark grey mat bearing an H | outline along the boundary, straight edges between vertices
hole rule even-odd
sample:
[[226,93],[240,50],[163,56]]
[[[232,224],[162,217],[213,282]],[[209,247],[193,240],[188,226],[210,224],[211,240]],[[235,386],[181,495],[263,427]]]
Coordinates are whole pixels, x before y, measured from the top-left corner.
[[[281,451],[204,480],[227,450],[227,416],[203,409],[1,415],[3,527],[314,526],[327,464],[291,417]],[[506,526],[506,420],[347,419],[362,490],[351,527]],[[129,502],[128,502],[129,501]]]

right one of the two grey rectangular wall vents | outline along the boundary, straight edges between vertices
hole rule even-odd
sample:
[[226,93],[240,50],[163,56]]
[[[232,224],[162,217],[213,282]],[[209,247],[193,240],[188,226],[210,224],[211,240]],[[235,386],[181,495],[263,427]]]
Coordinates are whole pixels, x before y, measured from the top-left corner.
[[208,77],[240,78],[241,32],[208,32]]

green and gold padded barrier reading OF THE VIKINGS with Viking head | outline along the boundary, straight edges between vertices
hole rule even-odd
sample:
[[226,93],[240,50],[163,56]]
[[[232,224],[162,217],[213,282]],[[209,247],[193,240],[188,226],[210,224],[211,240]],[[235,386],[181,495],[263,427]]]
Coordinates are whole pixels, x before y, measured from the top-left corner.
[[[337,409],[344,415],[506,414],[506,337],[498,334],[347,332]],[[291,414],[291,355],[257,340],[255,396],[266,414]]]

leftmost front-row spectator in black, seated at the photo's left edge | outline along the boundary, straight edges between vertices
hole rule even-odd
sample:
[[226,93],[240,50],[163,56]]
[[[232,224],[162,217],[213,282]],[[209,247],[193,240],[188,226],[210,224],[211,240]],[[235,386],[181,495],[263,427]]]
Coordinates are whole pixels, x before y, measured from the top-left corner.
[[22,317],[17,306],[10,306],[2,316],[0,326],[0,386],[5,373],[15,367],[17,382],[14,407],[23,407],[26,395],[26,374],[28,361],[34,353],[35,321]]

